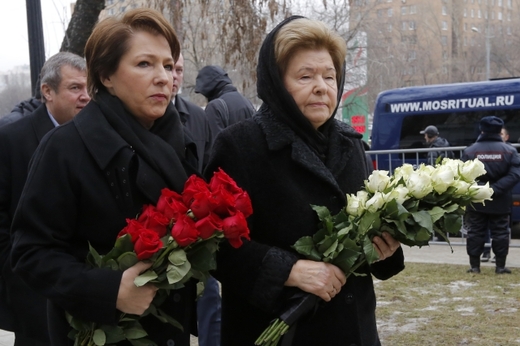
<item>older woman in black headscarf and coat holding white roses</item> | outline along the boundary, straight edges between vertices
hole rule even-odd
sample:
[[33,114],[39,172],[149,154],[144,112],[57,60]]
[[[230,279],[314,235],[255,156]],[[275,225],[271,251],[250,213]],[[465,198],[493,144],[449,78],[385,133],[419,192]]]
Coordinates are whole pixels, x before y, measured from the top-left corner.
[[260,51],[262,107],[216,139],[206,172],[224,169],[253,204],[251,241],[239,249],[223,246],[217,255],[223,346],[253,345],[299,291],[324,302],[297,323],[292,345],[380,344],[370,274],[387,279],[400,272],[400,244],[386,233],[375,237],[381,261],[348,280],[339,268],[301,259],[291,248],[317,231],[311,204],[337,213],[368,175],[361,135],[334,119],[345,55],[344,40],[323,23],[286,19]]

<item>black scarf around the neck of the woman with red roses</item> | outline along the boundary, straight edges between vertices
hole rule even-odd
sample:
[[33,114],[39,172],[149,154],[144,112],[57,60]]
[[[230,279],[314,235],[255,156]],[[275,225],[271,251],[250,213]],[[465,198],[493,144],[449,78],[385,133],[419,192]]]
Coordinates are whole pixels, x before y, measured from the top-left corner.
[[171,102],[149,130],[125,109],[119,98],[107,91],[99,91],[95,102],[116,132],[159,172],[168,187],[180,193],[188,178],[184,167],[184,129]]

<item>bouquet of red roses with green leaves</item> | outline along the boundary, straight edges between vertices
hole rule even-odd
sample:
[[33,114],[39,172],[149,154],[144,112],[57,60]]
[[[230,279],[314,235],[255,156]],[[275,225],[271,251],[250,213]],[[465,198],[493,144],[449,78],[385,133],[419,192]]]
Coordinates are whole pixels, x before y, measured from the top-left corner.
[[137,218],[126,220],[109,253],[100,255],[90,247],[87,256],[93,267],[122,271],[138,261],[151,261],[152,266],[134,282],[159,288],[152,304],[141,316],[121,313],[117,326],[81,321],[67,313],[74,345],[109,345],[125,339],[134,346],[155,345],[139,323],[148,314],[182,329],[160,309],[161,304],[170,290],[184,287],[188,280],[203,285],[209,271],[216,269],[220,241],[227,239],[238,248],[242,238],[249,239],[246,218],[252,211],[247,192],[221,169],[209,184],[192,175],[182,194],[163,189],[156,206],[145,205]]

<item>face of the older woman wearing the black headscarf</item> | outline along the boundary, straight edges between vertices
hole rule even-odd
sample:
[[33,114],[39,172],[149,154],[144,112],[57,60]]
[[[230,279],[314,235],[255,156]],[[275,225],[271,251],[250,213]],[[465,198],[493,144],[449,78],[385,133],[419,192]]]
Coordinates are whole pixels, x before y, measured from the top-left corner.
[[296,51],[283,76],[285,88],[315,129],[332,116],[337,104],[336,69],[325,49]]

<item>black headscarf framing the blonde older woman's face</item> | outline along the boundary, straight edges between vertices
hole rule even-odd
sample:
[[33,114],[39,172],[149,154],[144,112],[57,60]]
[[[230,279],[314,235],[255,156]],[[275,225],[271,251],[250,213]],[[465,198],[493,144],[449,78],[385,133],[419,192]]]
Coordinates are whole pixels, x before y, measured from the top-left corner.
[[334,115],[341,102],[343,94],[343,84],[345,78],[345,68],[338,71],[338,102],[332,116],[319,127],[318,130],[312,126],[311,122],[303,115],[294,101],[292,95],[287,91],[283,83],[283,76],[280,76],[278,65],[275,59],[275,38],[276,34],[285,24],[295,20],[305,18],[302,16],[291,16],[278,24],[265,38],[258,57],[256,69],[258,97],[263,101],[259,112],[272,112],[279,117],[291,129],[302,138],[305,143],[322,159],[325,159],[328,148],[328,130],[334,121]]

